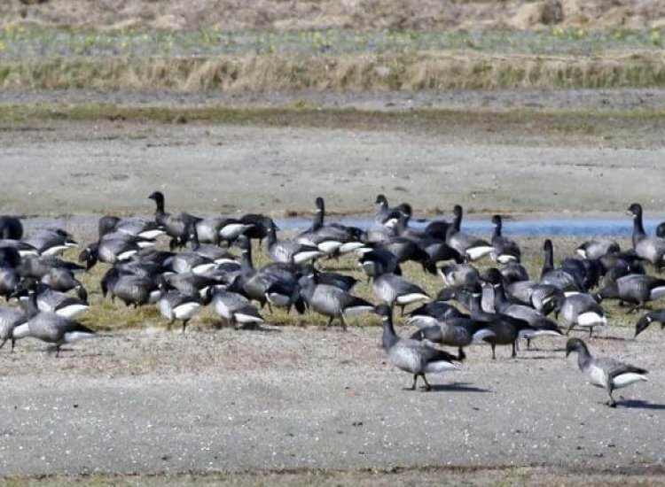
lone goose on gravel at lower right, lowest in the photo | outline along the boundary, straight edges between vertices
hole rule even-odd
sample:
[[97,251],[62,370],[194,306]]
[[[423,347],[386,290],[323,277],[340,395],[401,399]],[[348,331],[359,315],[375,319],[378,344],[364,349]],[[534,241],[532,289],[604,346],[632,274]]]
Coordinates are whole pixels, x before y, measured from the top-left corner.
[[610,407],[616,407],[612,397],[615,389],[629,386],[632,383],[648,381],[644,368],[625,364],[615,359],[593,358],[586,344],[579,338],[570,338],[566,344],[566,357],[577,352],[577,365],[591,385],[605,388],[609,396]]

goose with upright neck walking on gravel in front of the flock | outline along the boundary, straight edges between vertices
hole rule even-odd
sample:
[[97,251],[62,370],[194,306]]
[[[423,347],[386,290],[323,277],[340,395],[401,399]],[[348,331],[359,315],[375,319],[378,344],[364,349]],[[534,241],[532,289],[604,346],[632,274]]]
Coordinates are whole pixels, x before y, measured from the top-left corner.
[[397,368],[413,375],[411,390],[416,390],[418,378],[422,377],[425,390],[432,390],[427,383],[426,374],[458,370],[453,361],[457,358],[431,345],[410,338],[400,338],[393,326],[393,309],[387,305],[379,305],[376,313],[381,317],[383,325],[383,348],[387,358]]

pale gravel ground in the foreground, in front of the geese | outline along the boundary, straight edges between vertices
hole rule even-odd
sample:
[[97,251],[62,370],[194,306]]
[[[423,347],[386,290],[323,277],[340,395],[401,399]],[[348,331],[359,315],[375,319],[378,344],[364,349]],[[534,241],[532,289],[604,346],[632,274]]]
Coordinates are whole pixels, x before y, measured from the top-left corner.
[[[400,330],[405,335],[407,330]],[[385,362],[378,328],[117,333],[60,359],[29,339],[0,355],[4,475],[528,467],[662,468],[665,335],[608,327],[591,351],[651,370],[585,384],[563,339],[509,359],[470,350],[431,392]]]

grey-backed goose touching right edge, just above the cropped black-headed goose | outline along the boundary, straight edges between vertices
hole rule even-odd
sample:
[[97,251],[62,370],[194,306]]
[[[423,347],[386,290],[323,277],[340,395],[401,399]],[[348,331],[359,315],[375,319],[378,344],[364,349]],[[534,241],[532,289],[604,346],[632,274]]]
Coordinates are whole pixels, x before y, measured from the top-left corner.
[[620,304],[630,303],[626,313],[632,313],[645,307],[649,301],[665,296],[665,280],[653,275],[628,274],[616,280],[605,281],[605,287],[599,291],[596,298],[619,299]]

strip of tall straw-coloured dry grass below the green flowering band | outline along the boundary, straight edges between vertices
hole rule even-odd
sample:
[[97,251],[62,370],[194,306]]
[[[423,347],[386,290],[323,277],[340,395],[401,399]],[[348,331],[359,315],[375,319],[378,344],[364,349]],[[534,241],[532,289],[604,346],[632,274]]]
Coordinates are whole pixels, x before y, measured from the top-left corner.
[[385,55],[0,60],[2,89],[419,90],[665,86],[665,53],[595,56],[424,51]]

